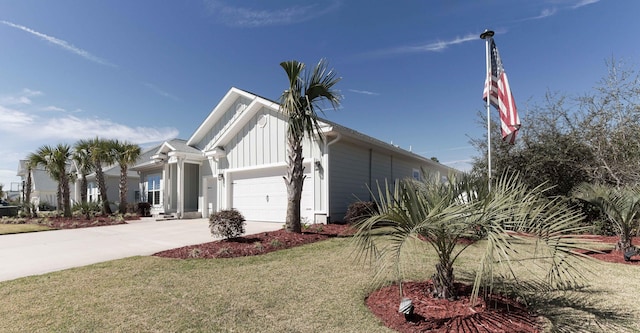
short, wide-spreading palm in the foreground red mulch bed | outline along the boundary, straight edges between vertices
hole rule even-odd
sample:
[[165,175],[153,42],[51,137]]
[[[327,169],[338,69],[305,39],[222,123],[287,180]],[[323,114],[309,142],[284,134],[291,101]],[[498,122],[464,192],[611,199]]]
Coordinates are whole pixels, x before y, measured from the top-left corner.
[[[487,188],[486,180],[469,175],[459,179],[450,175],[447,182],[426,177],[385,185],[378,190],[378,211],[355,224],[360,254],[399,273],[404,256],[415,254],[407,251],[409,245],[428,244],[438,257],[432,293],[449,299],[456,297],[453,264],[469,246],[459,240],[483,238],[486,245],[478,258],[475,300],[480,288],[493,287],[497,272],[516,278],[512,265],[522,261],[513,259],[523,254],[517,253],[513,242],[524,238],[515,235],[524,233],[536,238],[539,247],[531,253],[532,261],[526,262],[539,259],[549,264],[549,274],[539,283],[551,287],[577,284],[581,274],[573,266],[572,250],[584,246],[565,234],[584,228],[580,226],[582,215],[560,199],[545,198],[548,188],[527,188],[517,175],[502,175],[491,192]],[[496,266],[502,269],[494,269]]]

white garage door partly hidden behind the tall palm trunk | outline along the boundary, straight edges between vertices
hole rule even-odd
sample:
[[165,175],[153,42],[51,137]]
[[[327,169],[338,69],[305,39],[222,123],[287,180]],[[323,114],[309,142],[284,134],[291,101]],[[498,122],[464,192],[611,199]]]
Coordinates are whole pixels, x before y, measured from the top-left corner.
[[[308,169],[308,168],[307,168]],[[287,214],[287,188],[282,168],[234,173],[232,183],[232,207],[248,221],[284,223]],[[305,174],[302,187],[300,213],[312,221],[313,179]]]

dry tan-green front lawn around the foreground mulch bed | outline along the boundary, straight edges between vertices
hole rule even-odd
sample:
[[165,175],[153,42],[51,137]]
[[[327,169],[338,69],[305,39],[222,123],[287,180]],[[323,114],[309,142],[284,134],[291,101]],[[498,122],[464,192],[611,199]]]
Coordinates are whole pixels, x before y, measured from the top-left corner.
[[[334,238],[256,257],[133,257],[2,282],[0,331],[390,332],[364,305],[373,271],[352,250]],[[461,280],[477,253],[461,256]],[[429,253],[407,276],[425,279],[433,264]],[[588,265],[598,272],[590,287],[528,301],[555,331],[640,331],[638,266]]]

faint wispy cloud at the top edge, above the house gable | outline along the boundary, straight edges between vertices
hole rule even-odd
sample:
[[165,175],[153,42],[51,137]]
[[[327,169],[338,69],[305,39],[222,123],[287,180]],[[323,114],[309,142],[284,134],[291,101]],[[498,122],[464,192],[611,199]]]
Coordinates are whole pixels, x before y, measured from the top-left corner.
[[209,1],[208,5],[209,11],[224,24],[256,28],[309,21],[336,10],[340,7],[340,2],[332,1],[328,5],[312,4],[275,10],[234,7],[217,0]]

